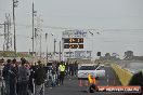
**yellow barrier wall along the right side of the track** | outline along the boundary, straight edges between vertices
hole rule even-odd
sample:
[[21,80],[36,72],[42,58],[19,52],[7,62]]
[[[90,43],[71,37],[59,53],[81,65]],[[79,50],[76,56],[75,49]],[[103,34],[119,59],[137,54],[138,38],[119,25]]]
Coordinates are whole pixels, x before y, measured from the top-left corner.
[[112,68],[115,70],[117,77],[119,78],[119,81],[121,82],[122,85],[128,85],[132,73],[129,72],[127,69],[121,68],[118,65],[113,64]]

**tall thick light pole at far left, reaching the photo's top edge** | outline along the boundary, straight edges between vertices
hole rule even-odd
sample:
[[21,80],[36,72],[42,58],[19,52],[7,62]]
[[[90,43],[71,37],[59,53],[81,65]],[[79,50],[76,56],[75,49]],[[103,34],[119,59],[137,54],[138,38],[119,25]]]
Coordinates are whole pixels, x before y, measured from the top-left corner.
[[13,25],[14,25],[14,53],[16,57],[16,29],[15,29],[15,8],[17,6],[17,0],[13,0]]

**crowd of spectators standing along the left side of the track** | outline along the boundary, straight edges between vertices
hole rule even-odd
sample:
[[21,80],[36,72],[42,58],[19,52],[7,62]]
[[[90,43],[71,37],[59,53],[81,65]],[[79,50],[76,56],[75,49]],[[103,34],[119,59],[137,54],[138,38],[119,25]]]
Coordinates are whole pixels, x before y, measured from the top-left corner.
[[21,58],[21,63],[1,59],[1,95],[44,95],[44,85],[64,85],[65,76],[77,76],[78,63],[52,62],[35,64]]

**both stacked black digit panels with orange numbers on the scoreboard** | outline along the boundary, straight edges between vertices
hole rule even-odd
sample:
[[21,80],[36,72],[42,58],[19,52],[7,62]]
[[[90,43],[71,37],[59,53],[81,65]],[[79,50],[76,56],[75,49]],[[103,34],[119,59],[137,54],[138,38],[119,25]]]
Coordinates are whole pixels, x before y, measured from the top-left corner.
[[83,38],[64,38],[64,49],[83,49]]

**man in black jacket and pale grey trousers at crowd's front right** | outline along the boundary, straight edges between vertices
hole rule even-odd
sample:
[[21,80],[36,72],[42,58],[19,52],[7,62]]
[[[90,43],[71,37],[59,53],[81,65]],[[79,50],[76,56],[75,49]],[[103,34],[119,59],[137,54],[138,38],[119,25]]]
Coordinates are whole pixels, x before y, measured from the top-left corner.
[[36,91],[35,95],[43,95],[44,93],[44,80],[46,80],[47,73],[46,70],[41,64],[41,62],[38,62],[38,68],[34,74],[35,78],[35,84],[36,84]]

